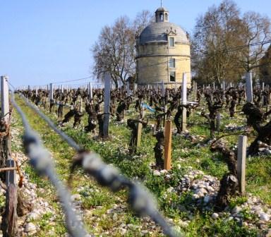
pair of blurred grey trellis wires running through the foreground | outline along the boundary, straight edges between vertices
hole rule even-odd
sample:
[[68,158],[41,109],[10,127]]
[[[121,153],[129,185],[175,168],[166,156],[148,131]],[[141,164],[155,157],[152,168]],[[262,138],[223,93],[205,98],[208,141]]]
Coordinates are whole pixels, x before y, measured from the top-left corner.
[[[73,149],[78,152],[78,159],[73,163],[73,169],[78,165],[83,166],[85,172],[94,177],[97,183],[100,183],[101,186],[109,188],[113,192],[126,188],[128,190],[128,203],[137,214],[140,216],[147,215],[150,217],[152,221],[155,221],[156,224],[162,227],[162,230],[166,236],[177,236],[173,227],[170,226],[162,214],[159,213],[154,198],[146,188],[141,186],[139,183],[135,183],[121,175],[119,170],[114,166],[107,165],[102,162],[102,159],[98,154],[85,152],[83,148],[77,145],[72,138],[66,135],[66,133],[59,130],[59,128],[56,128],[54,123],[45,114],[43,114],[42,111],[33,106],[27,98],[25,98],[22,94],[20,94],[20,96],[24,99],[28,107],[39,114],[41,118],[47,122],[50,128],[52,128],[63,140],[68,143],[68,145],[73,147]],[[25,151],[30,157],[30,163],[36,169],[38,174],[49,177],[49,180],[59,194],[62,207],[66,214],[66,227],[68,233],[71,234],[71,236],[85,236],[86,232],[83,229],[83,224],[80,223],[76,217],[76,214],[73,212],[71,197],[68,190],[64,188],[63,184],[57,177],[49,152],[44,149],[42,142],[40,142],[39,136],[32,130],[32,128],[30,128],[25,114],[15,102],[13,93],[11,102],[14,107],[16,107],[23,120],[23,126],[25,128],[23,142]],[[178,236],[180,236],[179,233]]]

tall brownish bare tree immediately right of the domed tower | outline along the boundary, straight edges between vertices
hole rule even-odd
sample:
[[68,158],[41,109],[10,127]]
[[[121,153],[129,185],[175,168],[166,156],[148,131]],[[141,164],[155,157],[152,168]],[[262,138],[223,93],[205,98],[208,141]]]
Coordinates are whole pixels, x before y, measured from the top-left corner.
[[238,75],[234,73],[237,54],[231,49],[243,43],[238,33],[241,27],[239,16],[236,4],[224,0],[198,18],[192,41],[192,58],[193,69],[199,78],[221,83]]

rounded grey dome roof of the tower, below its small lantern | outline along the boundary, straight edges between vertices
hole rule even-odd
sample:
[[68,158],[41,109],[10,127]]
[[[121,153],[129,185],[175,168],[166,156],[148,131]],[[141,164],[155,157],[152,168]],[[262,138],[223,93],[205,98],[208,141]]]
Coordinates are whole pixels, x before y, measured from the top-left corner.
[[186,32],[174,23],[159,22],[148,25],[139,36],[139,44],[150,42],[167,42],[167,32],[176,33],[175,42],[188,44],[189,40]]

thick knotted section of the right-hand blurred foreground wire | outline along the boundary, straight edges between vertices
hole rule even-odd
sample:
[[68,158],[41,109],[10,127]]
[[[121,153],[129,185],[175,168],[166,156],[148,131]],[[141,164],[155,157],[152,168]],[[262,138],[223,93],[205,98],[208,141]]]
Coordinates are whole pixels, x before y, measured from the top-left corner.
[[128,188],[128,203],[140,216],[149,216],[156,224],[162,227],[167,236],[176,236],[171,226],[157,211],[154,197],[139,183],[133,183],[122,176],[114,166],[104,164],[99,155],[83,152],[82,156],[73,163],[73,169],[80,164],[85,172],[93,176],[101,186],[106,186],[113,192]]

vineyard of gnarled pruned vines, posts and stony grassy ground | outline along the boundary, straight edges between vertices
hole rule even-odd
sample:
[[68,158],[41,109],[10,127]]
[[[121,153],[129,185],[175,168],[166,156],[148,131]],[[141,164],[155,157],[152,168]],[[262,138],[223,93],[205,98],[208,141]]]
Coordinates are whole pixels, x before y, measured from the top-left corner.
[[4,236],[270,236],[268,86],[1,80]]

